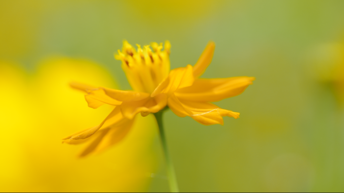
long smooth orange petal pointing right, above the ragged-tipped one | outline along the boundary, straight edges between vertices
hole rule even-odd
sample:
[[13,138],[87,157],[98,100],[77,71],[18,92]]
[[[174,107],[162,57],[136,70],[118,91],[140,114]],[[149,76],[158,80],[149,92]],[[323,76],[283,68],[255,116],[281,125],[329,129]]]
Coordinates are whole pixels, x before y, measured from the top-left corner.
[[181,100],[196,102],[216,102],[241,94],[254,77],[231,77],[215,79],[196,79],[192,86],[175,92]]

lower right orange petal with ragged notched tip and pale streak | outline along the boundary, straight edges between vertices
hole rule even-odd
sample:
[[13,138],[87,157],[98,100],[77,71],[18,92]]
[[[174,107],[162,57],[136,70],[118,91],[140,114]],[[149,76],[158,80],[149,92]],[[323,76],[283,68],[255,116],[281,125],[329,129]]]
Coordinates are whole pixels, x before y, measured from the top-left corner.
[[189,116],[203,125],[223,125],[224,116],[239,118],[239,113],[221,109],[210,103],[181,101],[174,94],[168,98],[167,103],[177,116]]

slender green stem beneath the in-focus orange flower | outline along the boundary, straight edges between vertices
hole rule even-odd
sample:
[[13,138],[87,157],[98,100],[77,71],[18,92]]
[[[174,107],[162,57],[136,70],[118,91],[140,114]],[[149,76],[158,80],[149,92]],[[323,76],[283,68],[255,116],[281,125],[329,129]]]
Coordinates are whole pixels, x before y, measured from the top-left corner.
[[158,123],[161,145],[163,149],[163,154],[166,159],[166,166],[167,166],[166,169],[167,169],[169,188],[171,192],[179,192],[175,169],[173,167],[173,163],[172,163],[171,158],[169,157],[169,153],[167,149],[167,143],[166,143],[165,133],[164,133],[163,124],[162,124],[162,114],[163,114],[163,111],[159,111],[157,113],[154,113],[154,116],[156,118],[156,122]]

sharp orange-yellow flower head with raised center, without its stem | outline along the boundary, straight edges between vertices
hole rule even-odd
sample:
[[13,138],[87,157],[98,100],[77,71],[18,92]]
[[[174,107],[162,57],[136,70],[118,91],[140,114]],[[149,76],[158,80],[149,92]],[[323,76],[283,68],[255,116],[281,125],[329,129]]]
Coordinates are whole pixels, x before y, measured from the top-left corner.
[[[80,83],[71,86],[87,92],[85,99],[91,108],[104,104],[114,110],[98,126],[64,138],[65,143],[78,144],[89,140],[94,143],[82,155],[103,150],[125,137],[137,114],[145,117],[168,106],[177,116],[189,116],[203,125],[221,124],[224,116],[239,118],[239,113],[217,107],[210,102],[238,95],[252,84],[253,77],[199,78],[210,64],[215,44],[210,42],[197,63],[169,70],[170,43],[152,43],[143,49],[134,49],[127,41],[122,51],[115,55],[122,61],[133,91],[105,87],[92,87]],[[162,50],[163,49],[163,50]]]

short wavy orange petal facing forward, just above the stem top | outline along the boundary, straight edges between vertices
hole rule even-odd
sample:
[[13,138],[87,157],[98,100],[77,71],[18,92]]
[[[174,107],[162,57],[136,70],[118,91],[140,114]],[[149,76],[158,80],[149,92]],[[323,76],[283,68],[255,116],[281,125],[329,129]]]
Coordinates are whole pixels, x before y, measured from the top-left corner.
[[133,119],[138,113],[141,113],[143,117],[150,113],[156,113],[162,110],[167,105],[166,94],[156,95],[154,98],[146,98],[141,101],[135,102],[123,102],[120,106],[122,114],[128,119]]

